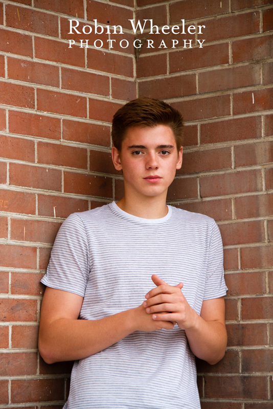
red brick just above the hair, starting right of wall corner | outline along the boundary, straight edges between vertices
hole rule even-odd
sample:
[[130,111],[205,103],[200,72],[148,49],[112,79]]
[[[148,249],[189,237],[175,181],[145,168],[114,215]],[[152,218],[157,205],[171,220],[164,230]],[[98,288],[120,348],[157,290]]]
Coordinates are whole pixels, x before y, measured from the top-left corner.
[[139,96],[156,99],[175,98],[196,94],[196,76],[159,78],[139,82]]

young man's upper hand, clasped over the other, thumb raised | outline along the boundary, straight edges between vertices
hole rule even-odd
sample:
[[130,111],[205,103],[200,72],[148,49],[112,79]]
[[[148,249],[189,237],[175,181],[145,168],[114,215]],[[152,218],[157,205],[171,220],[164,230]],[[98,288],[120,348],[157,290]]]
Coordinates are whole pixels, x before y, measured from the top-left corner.
[[[152,275],[152,281],[156,285],[149,291],[143,302],[148,314],[153,314],[153,320],[176,322],[181,329],[189,329],[195,326],[198,319],[197,313],[191,308],[181,289],[183,283],[171,286],[161,280],[156,274]],[[165,312],[158,315],[158,312]]]

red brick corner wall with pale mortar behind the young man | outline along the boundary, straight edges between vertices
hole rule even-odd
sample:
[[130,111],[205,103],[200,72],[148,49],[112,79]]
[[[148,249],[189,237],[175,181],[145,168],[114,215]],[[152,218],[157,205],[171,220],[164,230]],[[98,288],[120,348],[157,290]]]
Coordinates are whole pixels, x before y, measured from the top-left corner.
[[[179,35],[175,49],[174,34],[145,31],[155,48],[146,41],[137,61],[134,16],[206,28]],[[76,17],[93,33],[67,34]],[[95,18],[124,34],[104,32],[96,49]],[[63,219],[122,196],[111,117],[144,95],[186,121],[169,202],[214,217],[224,242],[229,347],[216,366],[198,362],[202,409],[272,407],[272,21],[270,0],[0,1],[0,407],[62,407],[71,363],[37,353],[39,280]]]

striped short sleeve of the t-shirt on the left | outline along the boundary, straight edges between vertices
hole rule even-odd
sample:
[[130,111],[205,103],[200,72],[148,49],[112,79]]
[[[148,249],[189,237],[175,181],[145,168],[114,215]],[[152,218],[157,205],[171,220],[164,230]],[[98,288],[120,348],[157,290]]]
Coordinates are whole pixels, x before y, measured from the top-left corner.
[[41,282],[48,287],[84,297],[89,271],[85,227],[81,218],[74,213],[67,217],[58,231],[47,274]]

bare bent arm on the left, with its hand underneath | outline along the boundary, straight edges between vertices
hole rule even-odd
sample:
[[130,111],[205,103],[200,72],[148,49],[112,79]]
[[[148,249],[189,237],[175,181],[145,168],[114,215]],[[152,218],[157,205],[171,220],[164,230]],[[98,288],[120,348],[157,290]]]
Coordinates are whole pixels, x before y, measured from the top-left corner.
[[[101,320],[78,320],[83,297],[47,287],[39,330],[39,351],[47,363],[82,359],[115,344],[134,331],[172,329],[174,323],[154,321],[143,305]],[[163,315],[163,314],[161,314]]]

